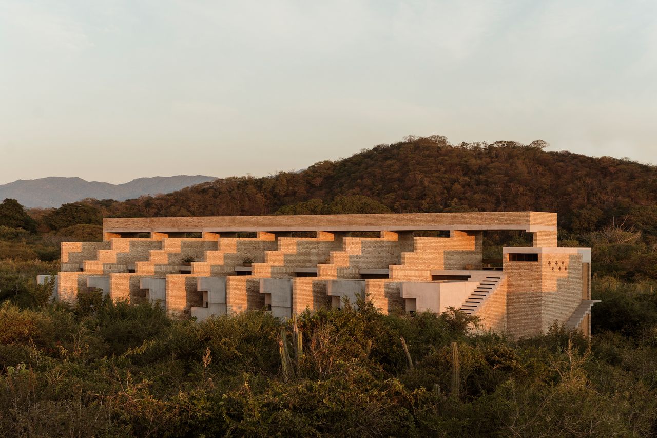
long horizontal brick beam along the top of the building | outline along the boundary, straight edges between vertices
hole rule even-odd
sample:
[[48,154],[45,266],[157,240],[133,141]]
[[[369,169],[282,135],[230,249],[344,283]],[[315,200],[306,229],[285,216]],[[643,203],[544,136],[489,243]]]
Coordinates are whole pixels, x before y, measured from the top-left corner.
[[206,216],[183,218],[106,218],[106,233],[181,231],[556,231],[556,213],[467,212],[326,214],[300,216]]

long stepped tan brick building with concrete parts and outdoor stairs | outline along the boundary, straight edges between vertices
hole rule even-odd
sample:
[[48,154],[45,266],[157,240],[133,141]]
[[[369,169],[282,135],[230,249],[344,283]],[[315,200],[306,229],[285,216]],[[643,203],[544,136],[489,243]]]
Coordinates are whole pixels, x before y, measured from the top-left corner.
[[[504,248],[493,266],[483,234],[495,230],[525,231],[533,245]],[[591,250],[557,247],[555,213],[114,218],[103,231],[101,243],[62,243],[58,299],[95,287],[202,320],[367,297],[382,312],[454,306],[516,336],[555,321],[590,333]]]

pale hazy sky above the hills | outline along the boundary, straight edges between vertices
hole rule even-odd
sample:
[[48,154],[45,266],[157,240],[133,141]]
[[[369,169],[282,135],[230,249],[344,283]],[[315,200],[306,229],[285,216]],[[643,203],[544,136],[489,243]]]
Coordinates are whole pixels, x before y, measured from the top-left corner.
[[657,1],[0,0],[0,184],[433,134],[657,162]]

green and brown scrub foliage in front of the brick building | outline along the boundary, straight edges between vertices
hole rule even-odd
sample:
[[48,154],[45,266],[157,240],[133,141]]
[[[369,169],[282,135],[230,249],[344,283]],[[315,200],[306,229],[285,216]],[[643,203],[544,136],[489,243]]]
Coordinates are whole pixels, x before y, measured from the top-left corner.
[[655,435],[654,314],[623,326],[645,285],[609,281],[595,295],[625,304],[595,314],[592,343],[559,326],[514,341],[453,312],[305,313],[289,378],[279,341],[292,326],[264,311],[197,323],[93,294],[72,308],[4,303],[0,434]]

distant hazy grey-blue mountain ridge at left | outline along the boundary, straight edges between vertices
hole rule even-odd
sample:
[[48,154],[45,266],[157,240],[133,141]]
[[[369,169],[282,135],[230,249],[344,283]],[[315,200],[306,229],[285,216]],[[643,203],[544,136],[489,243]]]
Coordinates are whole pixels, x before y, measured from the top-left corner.
[[82,178],[49,176],[37,180],[17,180],[0,185],[0,201],[5,198],[16,199],[25,207],[59,207],[85,198],[125,199],[143,195],[171,193],[190,185],[214,181],[214,176],[176,175],[137,178],[123,184],[86,181]]

